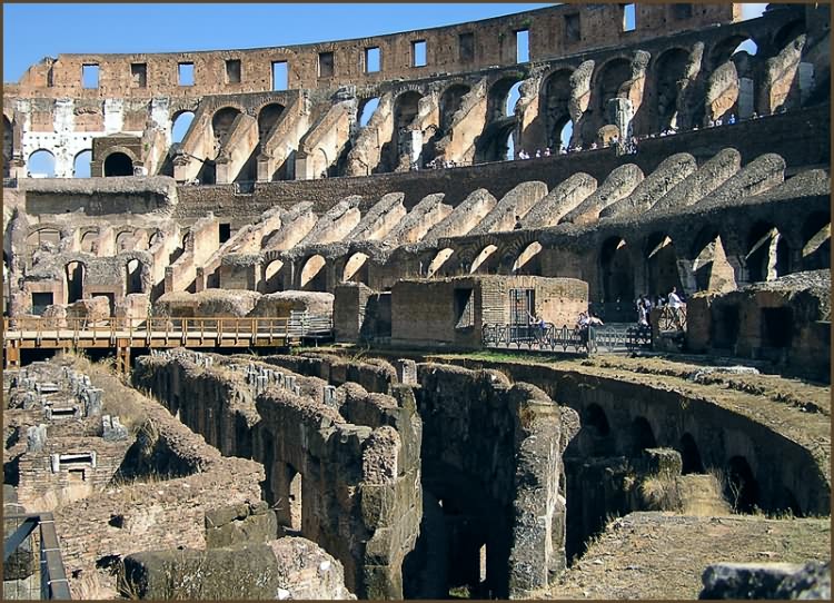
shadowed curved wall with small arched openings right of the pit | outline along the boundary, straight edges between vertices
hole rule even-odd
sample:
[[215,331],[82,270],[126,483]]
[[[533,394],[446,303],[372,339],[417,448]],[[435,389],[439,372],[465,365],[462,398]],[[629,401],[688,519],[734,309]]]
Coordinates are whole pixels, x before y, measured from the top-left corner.
[[[827,452],[818,448],[810,436],[784,424],[777,409],[768,409],[782,403],[756,398],[753,404],[753,396],[747,396],[745,406],[739,407],[719,399],[717,392],[709,394],[696,385],[692,388],[661,382],[647,385],[614,374],[602,376],[598,372],[540,365],[464,364],[500,368],[513,379],[536,385],[557,403],[575,409],[584,425],[594,423],[595,429],[583,429],[576,438],[570,451],[574,455],[634,456],[647,441],[684,454],[682,442],[688,434],[704,467],[726,468],[733,458],[744,458],[755,480],[755,504],[759,508],[796,507],[802,514],[828,513]],[[812,415],[808,428],[816,431],[818,419]]]

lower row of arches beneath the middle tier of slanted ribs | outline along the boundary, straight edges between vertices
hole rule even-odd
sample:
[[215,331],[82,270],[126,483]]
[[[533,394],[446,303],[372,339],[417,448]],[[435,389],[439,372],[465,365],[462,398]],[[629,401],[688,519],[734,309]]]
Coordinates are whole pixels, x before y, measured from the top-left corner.
[[[773,223],[756,221],[746,237],[739,241],[742,258],[728,258],[725,254],[726,240],[721,230],[705,226],[695,237],[688,249],[677,249],[668,233],[655,231],[642,239],[641,248],[633,249],[626,238],[618,235],[605,237],[598,246],[597,276],[602,302],[625,302],[641,294],[665,295],[672,287],[694,293],[711,288],[712,278],[722,268],[729,271],[729,278],[738,281],[757,283],[773,280],[780,276],[800,270],[816,270],[831,267],[831,215],[825,211],[811,212],[790,241]],[[513,241],[499,248],[500,241],[489,243],[477,251],[451,247],[429,251],[419,263],[418,276],[443,277],[475,274],[545,275],[542,263],[542,241]],[[351,253],[337,261],[337,283],[364,283],[369,279],[370,256],[363,251]],[[683,260],[688,264],[682,265]],[[641,263],[639,271],[635,263]],[[264,265],[264,291],[280,290],[288,280],[281,270],[288,268],[282,258],[271,258]],[[298,263],[300,271],[290,279],[294,288],[325,291],[329,289],[326,267],[328,260],[314,254]],[[739,274],[738,269],[745,273]],[[682,278],[686,270],[692,279]],[[550,271],[549,269],[547,270]],[[643,278],[636,278],[643,275]],[[417,276],[417,275],[415,275]],[[637,281],[641,284],[637,284]],[[635,290],[643,288],[645,290]],[[592,287],[593,291],[593,287]]]

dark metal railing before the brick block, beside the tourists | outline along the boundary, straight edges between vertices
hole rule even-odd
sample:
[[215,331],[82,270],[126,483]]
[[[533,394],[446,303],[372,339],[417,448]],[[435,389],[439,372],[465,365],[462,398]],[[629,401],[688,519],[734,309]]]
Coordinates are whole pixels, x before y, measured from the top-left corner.
[[486,347],[572,352],[635,352],[652,347],[652,329],[639,325],[602,325],[587,328],[538,325],[486,324],[481,343]]

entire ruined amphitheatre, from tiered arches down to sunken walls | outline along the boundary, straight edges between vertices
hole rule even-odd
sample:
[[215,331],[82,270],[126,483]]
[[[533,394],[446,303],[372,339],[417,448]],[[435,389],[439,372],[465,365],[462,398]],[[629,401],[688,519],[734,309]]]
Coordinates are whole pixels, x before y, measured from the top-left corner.
[[[638,485],[662,473],[724,472],[722,512],[830,512],[828,6],[742,21],[738,4],[637,4],[633,30],[626,7],[60,55],[4,87],[7,328],[306,312],[375,346],[137,350],[158,433],[64,433],[80,406],[59,404],[37,454],[22,434],[46,411],[7,387],[7,474],[21,504],[56,507],[72,571],[118,556],[150,597],[207,595],[166,577],[203,563],[238,564],[206,582],[228,597],[226,576],[259,573],[248,596],[522,597],[607,515],[657,511]],[[53,177],[31,174],[38,151]],[[75,178],[87,151],[92,177]],[[673,287],[688,326],[667,343],[697,359],[433,356],[524,315],[634,323],[635,298]],[[64,435],[87,473],[60,471]],[[165,466],[171,494],[125,486],[108,524],[125,466],[160,458],[186,466]],[[172,532],[183,501],[186,551],[152,546],[151,520]]]

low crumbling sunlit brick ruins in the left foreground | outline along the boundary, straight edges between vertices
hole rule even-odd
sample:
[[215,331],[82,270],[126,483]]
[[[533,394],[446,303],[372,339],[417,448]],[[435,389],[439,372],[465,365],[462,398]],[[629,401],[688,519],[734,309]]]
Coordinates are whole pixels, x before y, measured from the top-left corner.
[[[110,570],[131,553],[205,548],[205,513],[259,501],[264,480],[258,463],[222,457],[166,408],[106,372],[95,368],[89,376],[92,386],[105,388],[105,408],[119,408],[126,424],[128,418],[136,423],[135,432],[115,441],[101,437],[100,414],[96,416],[98,428],[92,415],[83,421],[48,422],[43,447],[24,453],[20,467],[27,511],[48,508],[50,502],[58,505],[53,511],[56,531],[73,597],[87,592],[83,589],[89,584],[100,584],[99,595],[115,595],[116,577]],[[20,413],[27,411],[7,408],[4,424],[7,416]],[[42,412],[39,414],[42,417]],[[33,419],[38,417],[19,417],[23,426]],[[20,442],[26,448],[27,437]],[[96,459],[61,463],[61,471],[53,475],[50,454],[70,453],[92,453]],[[82,474],[70,475],[79,468]]]

